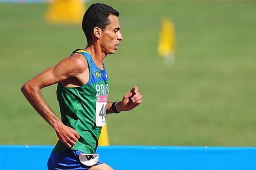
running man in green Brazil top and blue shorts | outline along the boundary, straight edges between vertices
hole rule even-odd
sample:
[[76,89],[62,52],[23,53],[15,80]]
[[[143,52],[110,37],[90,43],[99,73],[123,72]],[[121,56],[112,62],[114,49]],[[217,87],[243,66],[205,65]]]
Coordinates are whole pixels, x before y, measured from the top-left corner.
[[[132,110],[142,98],[135,86],[123,95],[122,101],[108,102],[109,77],[103,60],[115,53],[123,39],[118,16],[119,12],[108,5],[91,5],[82,20],[86,48],[74,51],[22,87],[29,103],[53,127],[59,139],[48,160],[49,169],[113,169],[95,155],[105,115]],[[61,120],[40,92],[55,83]]]

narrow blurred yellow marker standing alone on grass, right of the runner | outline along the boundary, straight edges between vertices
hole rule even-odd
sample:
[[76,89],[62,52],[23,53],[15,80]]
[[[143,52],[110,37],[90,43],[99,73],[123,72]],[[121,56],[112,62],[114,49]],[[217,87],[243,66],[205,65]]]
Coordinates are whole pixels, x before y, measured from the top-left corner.
[[161,57],[174,57],[174,51],[174,23],[169,17],[164,17],[162,18],[162,26],[158,42],[158,54]]

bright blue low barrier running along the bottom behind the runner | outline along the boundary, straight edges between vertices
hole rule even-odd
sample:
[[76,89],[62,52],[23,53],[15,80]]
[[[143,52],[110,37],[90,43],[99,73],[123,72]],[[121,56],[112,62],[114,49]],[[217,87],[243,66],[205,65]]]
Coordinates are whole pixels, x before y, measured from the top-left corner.
[[[53,146],[0,145],[0,169],[47,169]],[[100,159],[118,169],[256,169],[256,148],[98,147]]]

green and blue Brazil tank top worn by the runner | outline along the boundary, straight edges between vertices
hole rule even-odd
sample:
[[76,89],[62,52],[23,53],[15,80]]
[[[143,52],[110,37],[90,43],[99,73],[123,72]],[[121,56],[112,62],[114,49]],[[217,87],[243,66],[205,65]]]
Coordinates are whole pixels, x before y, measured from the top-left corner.
[[[79,87],[63,87],[59,82],[57,100],[61,121],[66,126],[75,129],[80,135],[77,143],[71,149],[93,154],[98,147],[101,126],[105,122],[109,78],[105,66],[103,65],[103,70],[99,69],[88,52],[76,50],[74,53],[79,53],[86,58],[90,69],[89,81]],[[96,119],[98,119],[97,123]],[[67,150],[70,148],[58,140],[53,152]]]

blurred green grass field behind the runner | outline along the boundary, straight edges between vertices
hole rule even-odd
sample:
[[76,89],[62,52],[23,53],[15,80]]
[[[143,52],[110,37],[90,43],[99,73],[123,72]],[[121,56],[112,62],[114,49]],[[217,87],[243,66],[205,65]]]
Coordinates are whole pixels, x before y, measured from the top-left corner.
[[[123,34],[105,59],[110,100],[134,85],[143,94],[140,107],[107,116],[112,145],[256,146],[256,2],[99,2],[119,10]],[[0,4],[0,144],[56,140],[20,87],[86,39],[80,25],[46,23],[47,7]],[[157,54],[162,16],[176,27],[173,66]],[[59,115],[55,88],[42,92]]]

